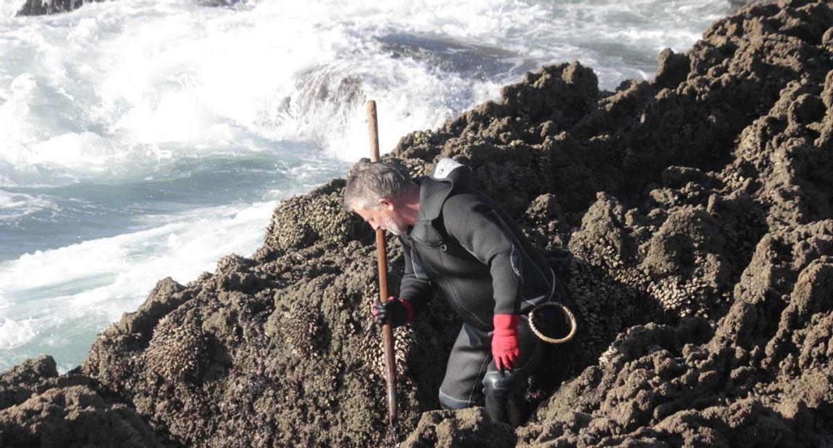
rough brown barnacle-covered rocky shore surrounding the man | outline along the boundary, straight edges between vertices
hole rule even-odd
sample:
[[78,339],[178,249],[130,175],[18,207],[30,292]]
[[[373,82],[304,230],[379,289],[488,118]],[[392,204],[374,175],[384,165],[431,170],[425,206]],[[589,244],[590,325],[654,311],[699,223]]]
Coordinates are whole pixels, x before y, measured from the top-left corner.
[[436,297],[395,331],[392,434],[374,236],[337,179],[282,202],[252,258],[160,281],[79,371],[4,374],[0,433],[56,431],[16,410],[37,385],[89,381],[92,407],[127,403],[107,415],[141,416],[148,444],[833,445],[833,3],[744,7],[659,59],[616,92],[578,62],[542,67],[387,156],[414,176],[441,157],[474,168],[565,286],[580,332],[550,347],[520,426],[436,411],[459,330]]

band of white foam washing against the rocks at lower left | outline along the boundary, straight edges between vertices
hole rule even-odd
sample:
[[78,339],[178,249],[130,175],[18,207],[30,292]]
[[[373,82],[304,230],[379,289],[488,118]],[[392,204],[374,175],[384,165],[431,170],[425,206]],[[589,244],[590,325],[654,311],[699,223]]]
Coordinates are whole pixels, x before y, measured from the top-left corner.
[[274,206],[157,217],[171,222],[0,263],[0,371],[40,353],[81,361],[85,351],[69,350],[72,335],[88,346],[109,322],[141,304],[157,280],[171,276],[187,283],[213,271],[222,256],[251,255]]

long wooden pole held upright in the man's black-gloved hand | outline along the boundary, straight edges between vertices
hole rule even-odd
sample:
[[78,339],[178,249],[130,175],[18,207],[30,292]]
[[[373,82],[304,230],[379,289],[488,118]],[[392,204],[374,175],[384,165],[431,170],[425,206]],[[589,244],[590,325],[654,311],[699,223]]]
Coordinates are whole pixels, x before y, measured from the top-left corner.
[[[367,102],[367,126],[370,132],[371,161],[379,162],[379,126],[376,117],[376,102]],[[387,301],[387,247],[385,231],[376,229],[376,247],[379,258],[379,300]],[[391,424],[397,420],[397,361],[393,353],[393,329],[390,323],[382,326],[382,343],[385,348],[385,371],[387,372],[387,416]]]

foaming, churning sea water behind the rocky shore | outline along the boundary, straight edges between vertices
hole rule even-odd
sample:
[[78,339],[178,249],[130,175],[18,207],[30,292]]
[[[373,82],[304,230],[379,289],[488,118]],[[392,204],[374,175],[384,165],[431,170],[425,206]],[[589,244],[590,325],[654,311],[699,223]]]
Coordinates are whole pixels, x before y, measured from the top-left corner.
[[651,77],[728,0],[0,0],[0,371],[77,366],[158,279],[249,256],[277,202],[545,63]]

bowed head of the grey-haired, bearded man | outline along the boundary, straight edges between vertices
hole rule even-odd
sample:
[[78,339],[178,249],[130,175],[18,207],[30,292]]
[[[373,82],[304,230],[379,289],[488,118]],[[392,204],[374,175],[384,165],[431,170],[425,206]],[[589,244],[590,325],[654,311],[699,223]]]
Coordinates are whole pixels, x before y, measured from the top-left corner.
[[382,227],[400,235],[416,222],[419,190],[401,168],[362,159],[347,174],[344,207],[374,230]]

